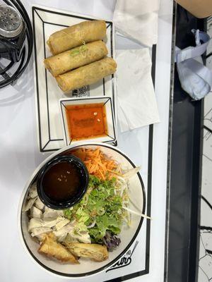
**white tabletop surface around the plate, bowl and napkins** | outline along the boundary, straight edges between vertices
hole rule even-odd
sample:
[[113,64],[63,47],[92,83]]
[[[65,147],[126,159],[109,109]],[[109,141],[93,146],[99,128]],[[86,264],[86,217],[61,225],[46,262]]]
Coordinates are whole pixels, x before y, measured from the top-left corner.
[[[112,20],[114,0],[23,0]],[[161,0],[156,57],[155,95],[161,122],[154,125],[150,273],[133,281],[162,282],[165,254],[167,136],[170,102],[172,0]],[[15,87],[0,90],[0,281],[59,282],[29,259],[18,238],[18,202],[26,180],[48,154],[39,152],[35,121],[33,58]],[[147,128],[119,134],[119,148],[137,164]],[[131,146],[133,145],[133,146]],[[81,279],[83,280],[83,279]],[[85,280],[86,281],[86,280]]]

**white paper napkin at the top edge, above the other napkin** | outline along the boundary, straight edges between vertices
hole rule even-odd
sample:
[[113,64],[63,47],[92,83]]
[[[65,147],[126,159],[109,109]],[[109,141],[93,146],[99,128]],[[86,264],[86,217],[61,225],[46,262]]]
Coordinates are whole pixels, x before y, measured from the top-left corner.
[[160,0],[117,0],[114,26],[126,37],[146,47],[158,39],[158,10]]

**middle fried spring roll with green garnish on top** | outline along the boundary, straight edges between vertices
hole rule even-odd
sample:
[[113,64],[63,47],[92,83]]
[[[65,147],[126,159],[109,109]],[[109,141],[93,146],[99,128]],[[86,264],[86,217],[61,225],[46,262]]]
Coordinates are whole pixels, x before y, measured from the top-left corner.
[[73,68],[98,61],[104,58],[107,53],[105,43],[99,40],[49,57],[45,59],[44,63],[45,68],[47,68],[53,76],[57,76],[71,71]]

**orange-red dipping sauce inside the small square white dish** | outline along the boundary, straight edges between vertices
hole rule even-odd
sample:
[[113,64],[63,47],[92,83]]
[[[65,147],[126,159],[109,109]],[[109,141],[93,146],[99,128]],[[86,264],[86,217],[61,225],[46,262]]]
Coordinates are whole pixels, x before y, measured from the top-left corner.
[[103,103],[66,106],[69,136],[73,141],[107,135],[106,109]]

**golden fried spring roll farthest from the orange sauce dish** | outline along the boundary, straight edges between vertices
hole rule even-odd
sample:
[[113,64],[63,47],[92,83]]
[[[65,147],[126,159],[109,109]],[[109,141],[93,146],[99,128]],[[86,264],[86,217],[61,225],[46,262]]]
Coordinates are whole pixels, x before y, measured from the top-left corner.
[[86,20],[49,36],[47,44],[53,55],[78,47],[84,42],[102,40],[106,35],[105,20]]

